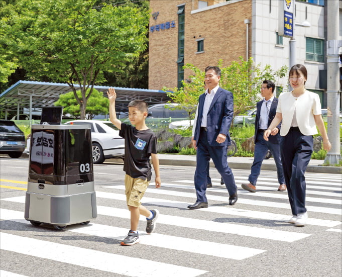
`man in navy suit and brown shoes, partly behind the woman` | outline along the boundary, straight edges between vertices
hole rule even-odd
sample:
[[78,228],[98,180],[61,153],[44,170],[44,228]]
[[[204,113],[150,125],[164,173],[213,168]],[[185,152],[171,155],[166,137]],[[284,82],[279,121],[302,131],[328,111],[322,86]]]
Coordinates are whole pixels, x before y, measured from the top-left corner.
[[255,133],[254,133],[254,161],[251,167],[251,174],[248,177],[249,183],[243,183],[242,188],[251,193],[256,192],[256,183],[260,174],[261,164],[267,154],[268,149],[271,151],[274,161],[277,166],[277,175],[279,188],[278,191],[286,191],[286,184],[284,179],[283,166],[280,159],[279,148],[279,130],[280,125],[277,126],[277,131],[274,136],[270,136],[269,140],[264,140],[264,132],[270,126],[273,118],[276,115],[278,106],[278,99],[273,96],[274,83],[269,80],[263,81],[261,85],[261,96],[264,100],[257,103],[257,115],[255,118]]

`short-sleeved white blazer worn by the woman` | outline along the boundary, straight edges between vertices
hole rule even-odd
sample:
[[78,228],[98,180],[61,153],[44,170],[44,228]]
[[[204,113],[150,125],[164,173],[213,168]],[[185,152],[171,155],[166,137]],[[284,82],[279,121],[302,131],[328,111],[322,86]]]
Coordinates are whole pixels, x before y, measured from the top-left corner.
[[300,97],[294,97],[292,91],[282,93],[279,96],[277,113],[282,114],[280,135],[285,136],[291,127],[294,111],[300,132],[305,136],[317,134],[316,123],[313,115],[321,115],[318,94],[305,90]]

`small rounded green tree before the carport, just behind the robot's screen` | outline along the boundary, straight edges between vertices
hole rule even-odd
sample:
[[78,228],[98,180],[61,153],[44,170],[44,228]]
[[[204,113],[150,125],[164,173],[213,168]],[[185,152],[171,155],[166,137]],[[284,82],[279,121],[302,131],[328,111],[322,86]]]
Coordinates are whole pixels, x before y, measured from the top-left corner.
[[[77,90],[76,94],[79,98],[81,97],[80,90]],[[76,98],[74,97],[73,91],[60,95],[59,100],[56,101],[54,105],[63,106],[64,107],[63,113],[70,114],[75,118],[79,118],[81,115],[80,107],[76,101]],[[92,94],[90,95],[88,99],[88,105],[85,109],[87,119],[92,119],[96,115],[101,115],[101,114],[106,115],[108,113],[108,109],[109,109],[108,99],[103,97],[102,93],[100,93],[98,90],[93,88]]]

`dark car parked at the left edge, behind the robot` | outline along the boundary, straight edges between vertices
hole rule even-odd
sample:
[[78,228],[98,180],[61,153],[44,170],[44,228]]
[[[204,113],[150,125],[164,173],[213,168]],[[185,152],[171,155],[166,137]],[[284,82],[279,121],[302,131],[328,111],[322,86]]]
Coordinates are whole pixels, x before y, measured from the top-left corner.
[[11,120],[0,120],[0,153],[19,158],[26,146],[25,135]]

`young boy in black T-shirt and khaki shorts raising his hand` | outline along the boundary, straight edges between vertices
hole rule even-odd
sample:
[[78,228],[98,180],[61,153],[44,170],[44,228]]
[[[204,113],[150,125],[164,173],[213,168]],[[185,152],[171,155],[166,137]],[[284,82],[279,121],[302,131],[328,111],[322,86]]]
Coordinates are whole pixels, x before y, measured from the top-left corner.
[[145,101],[134,100],[128,104],[128,117],[132,125],[117,119],[114,88],[107,91],[109,99],[110,121],[120,130],[119,135],[125,139],[125,194],[128,209],[131,212],[131,230],[121,245],[133,245],[140,242],[138,224],[140,215],[146,216],[146,233],[151,234],[156,227],[158,210],[147,210],[141,205],[141,199],[151,180],[150,156],[156,175],[156,188],[160,188],[159,160],[157,156],[157,137],[145,124],[148,105]]

